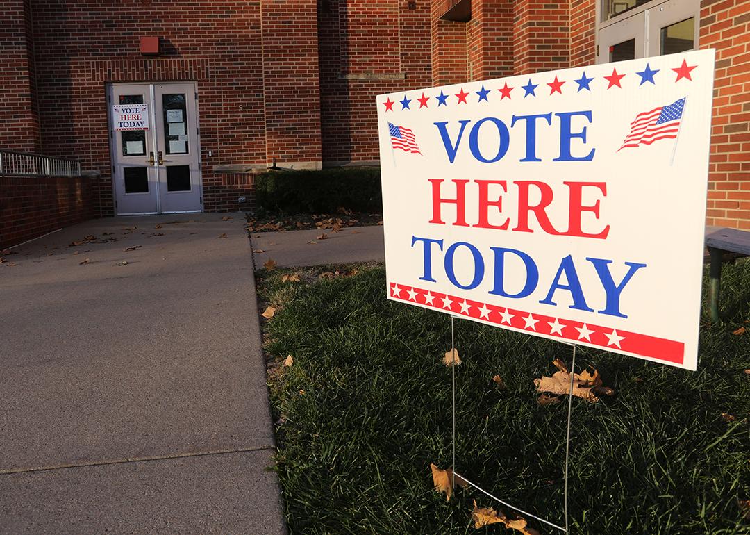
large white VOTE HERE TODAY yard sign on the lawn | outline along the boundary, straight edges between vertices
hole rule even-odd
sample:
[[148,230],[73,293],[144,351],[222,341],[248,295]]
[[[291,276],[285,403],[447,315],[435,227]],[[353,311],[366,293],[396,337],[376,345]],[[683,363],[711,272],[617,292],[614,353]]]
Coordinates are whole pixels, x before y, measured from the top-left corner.
[[714,51],[377,97],[388,296],[697,365]]

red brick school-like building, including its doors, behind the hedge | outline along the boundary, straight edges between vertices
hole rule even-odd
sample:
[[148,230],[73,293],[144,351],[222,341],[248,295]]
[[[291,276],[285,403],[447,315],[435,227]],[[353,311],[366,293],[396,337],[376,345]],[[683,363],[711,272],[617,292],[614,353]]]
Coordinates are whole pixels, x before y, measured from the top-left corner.
[[[713,47],[707,222],[750,228],[748,0],[0,6],[0,148],[80,160],[93,215],[242,209],[274,163],[375,164],[384,92]],[[148,131],[116,130],[137,104]]]

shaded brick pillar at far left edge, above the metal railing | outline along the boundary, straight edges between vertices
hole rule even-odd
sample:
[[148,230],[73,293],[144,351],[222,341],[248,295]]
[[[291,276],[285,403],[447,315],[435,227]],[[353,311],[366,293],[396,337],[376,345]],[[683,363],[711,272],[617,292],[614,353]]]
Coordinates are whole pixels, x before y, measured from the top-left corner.
[[0,0],[0,148],[38,152],[28,0]]

